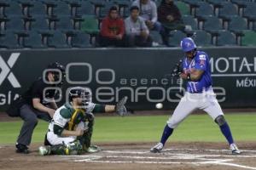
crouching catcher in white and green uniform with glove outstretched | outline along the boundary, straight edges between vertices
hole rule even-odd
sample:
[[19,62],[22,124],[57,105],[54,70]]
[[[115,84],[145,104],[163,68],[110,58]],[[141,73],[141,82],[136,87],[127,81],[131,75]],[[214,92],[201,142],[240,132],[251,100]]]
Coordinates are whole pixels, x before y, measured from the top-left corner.
[[96,145],[90,145],[93,131],[93,112],[117,112],[127,114],[127,97],[117,105],[98,105],[91,101],[89,88],[75,87],[68,93],[68,102],[55,111],[45,135],[44,146],[39,147],[40,155],[79,155],[83,152],[97,152]]

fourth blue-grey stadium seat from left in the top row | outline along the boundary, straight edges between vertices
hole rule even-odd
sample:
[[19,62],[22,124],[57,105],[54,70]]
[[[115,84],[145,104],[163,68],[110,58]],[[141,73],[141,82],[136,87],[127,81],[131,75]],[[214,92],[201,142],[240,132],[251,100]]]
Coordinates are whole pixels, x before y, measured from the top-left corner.
[[76,16],[83,16],[84,14],[95,14],[95,7],[89,1],[81,1],[81,6],[77,8]]

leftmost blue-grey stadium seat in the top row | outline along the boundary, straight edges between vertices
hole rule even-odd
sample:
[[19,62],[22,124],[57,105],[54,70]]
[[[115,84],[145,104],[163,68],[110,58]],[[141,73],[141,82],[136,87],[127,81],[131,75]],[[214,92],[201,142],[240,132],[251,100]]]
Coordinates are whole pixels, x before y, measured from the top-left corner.
[[20,5],[20,3],[16,3],[12,1],[11,3],[9,3],[8,7],[4,8],[4,15],[6,17],[12,16],[12,15],[22,16],[23,15],[22,6]]

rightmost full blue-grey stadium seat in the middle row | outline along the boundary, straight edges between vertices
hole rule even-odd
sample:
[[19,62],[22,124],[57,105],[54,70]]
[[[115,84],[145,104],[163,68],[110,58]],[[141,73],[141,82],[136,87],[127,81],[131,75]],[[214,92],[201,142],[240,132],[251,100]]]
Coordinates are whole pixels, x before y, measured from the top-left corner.
[[230,18],[229,30],[240,34],[243,30],[247,30],[247,20],[240,16]]

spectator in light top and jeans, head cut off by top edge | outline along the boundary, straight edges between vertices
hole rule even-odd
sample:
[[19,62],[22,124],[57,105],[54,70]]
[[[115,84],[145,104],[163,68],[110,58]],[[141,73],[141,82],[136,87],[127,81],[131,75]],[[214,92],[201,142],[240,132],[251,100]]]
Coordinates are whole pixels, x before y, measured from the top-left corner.
[[140,16],[145,20],[149,30],[162,31],[160,22],[157,21],[157,8],[152,0],[136,0],[132,6],[137,6],[140,10]]

